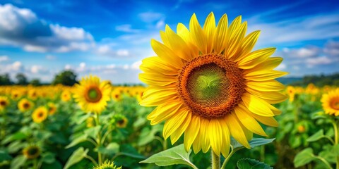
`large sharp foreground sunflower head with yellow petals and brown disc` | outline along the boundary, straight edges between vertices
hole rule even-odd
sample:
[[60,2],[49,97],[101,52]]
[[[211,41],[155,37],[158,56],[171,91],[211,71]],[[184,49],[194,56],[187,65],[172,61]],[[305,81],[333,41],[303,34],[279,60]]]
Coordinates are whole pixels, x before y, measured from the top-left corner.
[[195,153],[227,156],[230,137],[250,148],[253,133],[266,136],[261,125],[278,126],[273,118],[281,112],[271,104],[287,99],[283,84],[274,80],[286,75],[273,70],[283,58],[270,57],[275,48],[251,51],[259,31],[246,35],[247,23],[238,16],[228,26],[227,15],[215,25],[213,13],[203,25],[196,15],[189,30],[166,25],[162,43],[151,41],[157,56],[145,58],[140,79],[149,85],[142,106],[157,106],[148,115],[151,125],[165,120],[163,136],[172,144],[184,134],[184,146]]

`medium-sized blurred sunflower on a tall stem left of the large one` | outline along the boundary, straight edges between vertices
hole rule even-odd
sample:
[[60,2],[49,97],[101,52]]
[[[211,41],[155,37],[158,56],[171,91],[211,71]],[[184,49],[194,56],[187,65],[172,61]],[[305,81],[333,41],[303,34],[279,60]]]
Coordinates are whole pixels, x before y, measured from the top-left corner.
[[86,112],[101,113],[107,106],[111,87],[107,82],[100,82],[100,78],[90,75],[76,84],[74,98]]

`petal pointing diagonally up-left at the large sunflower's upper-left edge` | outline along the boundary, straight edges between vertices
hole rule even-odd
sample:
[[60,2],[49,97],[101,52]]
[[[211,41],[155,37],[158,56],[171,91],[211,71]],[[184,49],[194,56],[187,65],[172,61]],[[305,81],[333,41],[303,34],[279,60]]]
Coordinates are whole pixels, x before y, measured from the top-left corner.
[[153,51],[157,56],[162,58],[166,63],[173,65],[175,68],[182,68],[182,60],[174,54],[174,52],[169,49],[165,44],[161,44],[160,42],[157,42],[155,39],[152,39],[150,41],[150,45],[153,48]]

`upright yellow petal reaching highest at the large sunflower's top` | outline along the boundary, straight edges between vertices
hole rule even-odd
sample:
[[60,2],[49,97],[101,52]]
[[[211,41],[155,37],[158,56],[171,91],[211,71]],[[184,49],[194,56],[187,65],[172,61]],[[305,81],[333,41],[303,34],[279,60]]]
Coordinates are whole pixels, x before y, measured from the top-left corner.
[[212,52],[213,49],[213,39],[215,33],[215,18],[213,12],[211,12],[206,20],[205,24],[203,25],[203,32],[206,34],[207,39],[207,54]]

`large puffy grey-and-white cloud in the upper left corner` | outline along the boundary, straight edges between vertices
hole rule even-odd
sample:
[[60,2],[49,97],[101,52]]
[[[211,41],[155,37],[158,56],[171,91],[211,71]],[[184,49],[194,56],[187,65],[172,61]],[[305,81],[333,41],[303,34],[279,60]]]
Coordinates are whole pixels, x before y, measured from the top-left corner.
[[41,53],[89,51],[95,46],[83,28],[47,24],[29,9],[11,4],[0,4],[0,44]]

